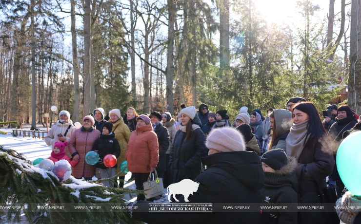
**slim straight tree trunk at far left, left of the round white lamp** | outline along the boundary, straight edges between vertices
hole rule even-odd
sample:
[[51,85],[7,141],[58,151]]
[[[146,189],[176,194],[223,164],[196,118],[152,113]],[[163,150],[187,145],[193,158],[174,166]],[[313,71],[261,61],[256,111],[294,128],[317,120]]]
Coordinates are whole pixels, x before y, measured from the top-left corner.
[[37,111],[36,111],[36,71],[35,71],[35,24],[34,24],[34,0],[30,1],[31,4],[31,127],[37,127]]

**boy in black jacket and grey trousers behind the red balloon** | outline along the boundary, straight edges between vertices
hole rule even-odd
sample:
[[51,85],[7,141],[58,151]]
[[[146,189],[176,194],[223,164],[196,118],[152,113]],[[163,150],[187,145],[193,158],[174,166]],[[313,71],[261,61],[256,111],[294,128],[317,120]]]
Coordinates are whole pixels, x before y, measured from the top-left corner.
[[[113,154],[116,158],[120,156],[120,146],[118,140],[114,137],[112,132],[113,124],[106,122],[103,126],[103,132],[100,134],[100,138],[95,140],[92,151],[96,151],[99,154],[101,160],[108,154]],[[118,163],[113,167],[108,168],[103,162],[99,162],[95,168],[95,176],[100,179],[110,178],[115,176],[115,169]],[[105,187],[113,187],[113,183],[109,181],[101,182]]]

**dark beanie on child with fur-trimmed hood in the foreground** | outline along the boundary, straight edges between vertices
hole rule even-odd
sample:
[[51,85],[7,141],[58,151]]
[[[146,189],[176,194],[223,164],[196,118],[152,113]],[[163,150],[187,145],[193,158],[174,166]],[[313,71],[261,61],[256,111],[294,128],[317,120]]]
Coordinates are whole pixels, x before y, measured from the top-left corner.
[[287,155],[283,149],[271,149],[266,151],[261,157],[261,162],[267,164],[274,170],[280,170],[287,165]]

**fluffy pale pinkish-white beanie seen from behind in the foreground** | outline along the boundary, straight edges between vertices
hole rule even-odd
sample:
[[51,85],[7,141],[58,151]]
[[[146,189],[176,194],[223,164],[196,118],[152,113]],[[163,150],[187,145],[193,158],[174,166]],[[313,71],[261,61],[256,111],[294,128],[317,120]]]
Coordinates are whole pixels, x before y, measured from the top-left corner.
[[221,152],[244,151],[243,136],[231,127],[213,129],[206,140],[206,147]]

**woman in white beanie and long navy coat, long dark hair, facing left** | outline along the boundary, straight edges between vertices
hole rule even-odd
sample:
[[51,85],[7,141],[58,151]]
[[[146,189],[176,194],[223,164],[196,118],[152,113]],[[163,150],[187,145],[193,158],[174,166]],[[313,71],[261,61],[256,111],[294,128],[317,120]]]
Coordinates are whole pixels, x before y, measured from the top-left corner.
[[194,180],[202,169],[201,157],[206,156],[205,135],[194,106],[180,111],[180,129],[177,131],[169,156],[173,183]]

